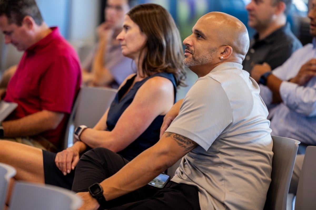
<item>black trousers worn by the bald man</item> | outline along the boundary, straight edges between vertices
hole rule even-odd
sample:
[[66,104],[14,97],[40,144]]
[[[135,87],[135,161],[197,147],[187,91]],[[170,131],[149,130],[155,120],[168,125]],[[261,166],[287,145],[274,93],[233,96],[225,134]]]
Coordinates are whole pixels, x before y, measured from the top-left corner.
[[[95,148],[86,152],[77,164],[72,190],[88,191],[94,183],[119,171],[128,161],[105,148]],[[142,177],[139,177],[142,179]],[[107,209],[200,209],[198,190],[188,184],[170,181],[163,189],[144,186],[138,190],[108,201]]]

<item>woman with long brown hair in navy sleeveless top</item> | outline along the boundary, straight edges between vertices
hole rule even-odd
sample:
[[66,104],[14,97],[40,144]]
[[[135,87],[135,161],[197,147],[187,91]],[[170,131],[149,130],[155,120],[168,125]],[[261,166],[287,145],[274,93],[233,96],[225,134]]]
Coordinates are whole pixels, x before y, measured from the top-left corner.
[[[57,154],[0,141],[0,162],[17,170],[18,180],[71,189],[79,156],[102,147],[133,159],[159,140],[164,115],[183,85],[183,48],[171,15],[159,5],[138,5],[125,16],[117,39],[122,54],[135,61],[137,73],[126,78],[94,128],[77,128],[79,141]],[[93,103],[93,101],[91,101]]]

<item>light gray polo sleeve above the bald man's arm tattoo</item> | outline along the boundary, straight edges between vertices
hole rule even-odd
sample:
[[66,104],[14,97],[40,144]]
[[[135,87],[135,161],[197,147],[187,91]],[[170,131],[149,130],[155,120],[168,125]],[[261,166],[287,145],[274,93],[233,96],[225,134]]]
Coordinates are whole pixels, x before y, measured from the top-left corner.
[[230,101],[221,84],[207,77],[199,78],[191,87],[179,115],[166,130],[193,140],[204,150],[225,135],[233,117]]

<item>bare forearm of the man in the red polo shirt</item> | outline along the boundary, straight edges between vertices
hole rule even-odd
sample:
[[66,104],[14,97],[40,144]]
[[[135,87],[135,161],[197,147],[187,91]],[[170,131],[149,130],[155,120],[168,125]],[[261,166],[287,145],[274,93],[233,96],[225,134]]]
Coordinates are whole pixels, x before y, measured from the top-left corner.
[[64,113],[43,110],[17,120],[2,122],[5,137],[31,136],[55,129]]

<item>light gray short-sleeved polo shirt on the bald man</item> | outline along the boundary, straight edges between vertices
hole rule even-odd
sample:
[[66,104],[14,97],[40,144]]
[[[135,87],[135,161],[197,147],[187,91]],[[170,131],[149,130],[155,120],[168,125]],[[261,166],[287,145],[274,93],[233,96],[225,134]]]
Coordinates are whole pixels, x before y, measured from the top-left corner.
[[172,181],[195,185],[202,210],[263,209],[270,185],[272,139],[258,84],[237,63],[224,63],[189,90],[167,132],[199,146]]

